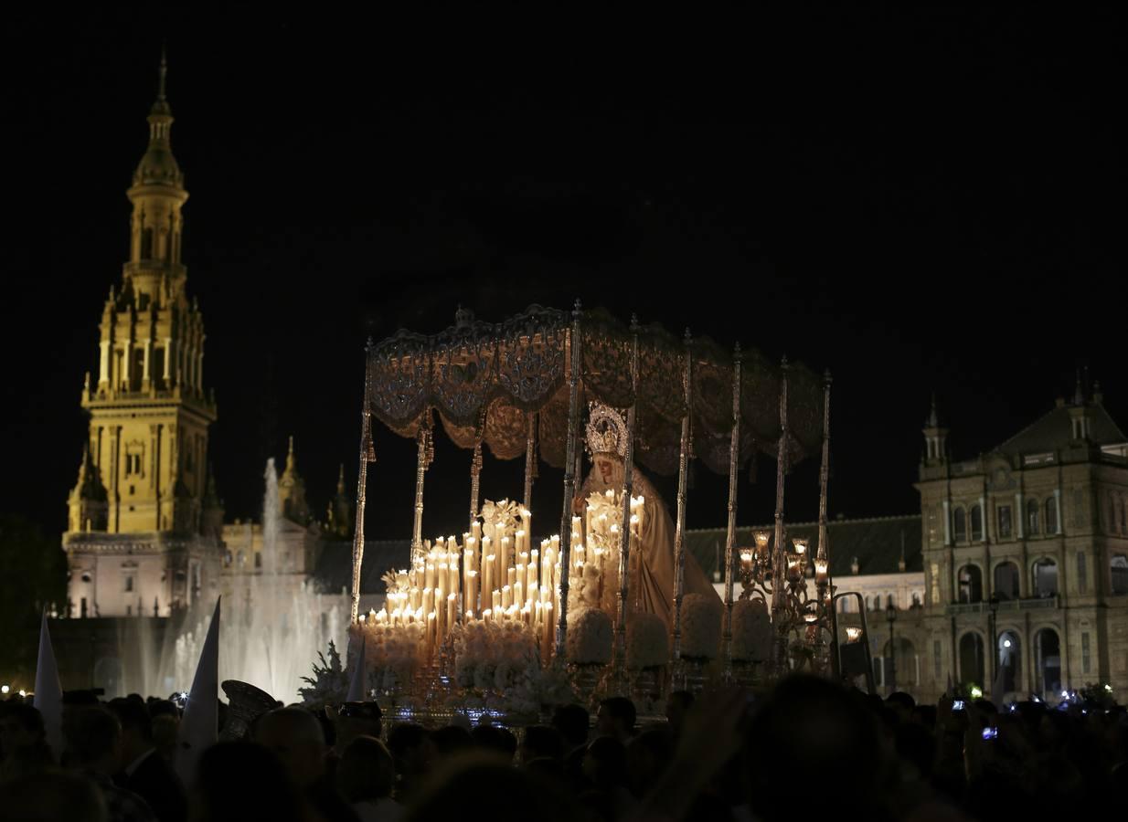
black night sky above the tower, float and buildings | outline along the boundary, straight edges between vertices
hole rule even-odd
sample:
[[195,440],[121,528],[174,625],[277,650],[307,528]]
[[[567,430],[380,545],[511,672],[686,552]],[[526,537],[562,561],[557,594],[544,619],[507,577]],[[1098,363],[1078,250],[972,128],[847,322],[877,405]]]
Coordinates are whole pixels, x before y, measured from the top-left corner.
[[[933,390],[958,457],[1078,364],[1128,427],[1123,18],[913,6],[10,23],[0,509],[64,527],[162,37],[229,518],[255,515],[291,432],[318,512],[341,461],[353,489],[364,337],[437,332],[459,303],[497,320],[579,297],[829,366],[832,515],[918,510]],[[426,533],[467,507],[468,453],[439,439]],[[381,430],[377,450],[369,529],[406,537],[413,444]],[[814,514],[812,468],[792,519]],[[760,471],[741,522],[773,507]],[[484,493],[519,477],[487,459]],[[557,477],[537,487],[553,516]],[[724,506],[702,477],[690,524]]]

